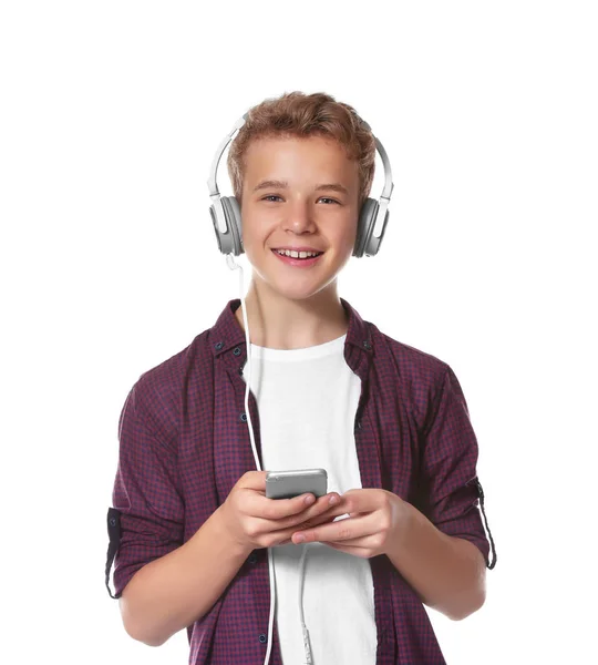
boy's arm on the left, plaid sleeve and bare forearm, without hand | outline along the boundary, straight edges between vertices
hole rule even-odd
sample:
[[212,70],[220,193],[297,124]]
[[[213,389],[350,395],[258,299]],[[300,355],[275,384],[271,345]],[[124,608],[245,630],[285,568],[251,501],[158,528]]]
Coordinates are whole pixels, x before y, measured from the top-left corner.
[[137,382],[118,422],[113,597],[120,598],[125,631],[150,646],[200,618],[249,554],[230,542],[218,510],[183,543],[185,505],[171,419],[159,396]]

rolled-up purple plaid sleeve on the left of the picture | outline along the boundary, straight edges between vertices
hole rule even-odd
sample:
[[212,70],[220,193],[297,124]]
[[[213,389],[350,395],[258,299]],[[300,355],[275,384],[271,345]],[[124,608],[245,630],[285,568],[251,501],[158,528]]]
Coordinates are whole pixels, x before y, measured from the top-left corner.
[[183,544],[176,436],[161,426],[159,411],[159,399],[140,380],[118,419],[118,466],[112,492],[113,505],[121,513],[115,597],[141,567]]

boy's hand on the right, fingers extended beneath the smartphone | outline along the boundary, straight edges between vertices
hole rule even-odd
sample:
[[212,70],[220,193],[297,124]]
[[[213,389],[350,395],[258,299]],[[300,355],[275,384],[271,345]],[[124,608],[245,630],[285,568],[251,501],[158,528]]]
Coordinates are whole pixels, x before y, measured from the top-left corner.
[[[341,504],[349,518],[313,529],[296,531],[292,542],[300,544],[319,541],[334,550],[371,559],[386,554],[403,531],[409,519],[405,501],[393,492],[377,488],[354,489],[341,495]],[[341,514],[344,514],[341,513]]]

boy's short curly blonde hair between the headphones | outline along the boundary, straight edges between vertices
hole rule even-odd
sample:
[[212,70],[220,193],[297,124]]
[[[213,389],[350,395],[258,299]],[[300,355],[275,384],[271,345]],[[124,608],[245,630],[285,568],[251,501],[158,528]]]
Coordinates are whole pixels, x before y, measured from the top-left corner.
[[359,166],[359,208],[370,194],[375,170],[375,140],[355,110],[323,92],[293,91],[269,98],[248,111],[230,144],[227,168],[233,191],[241,202],[245,153],[249,143],[265,136],[323,136],[336,139]]

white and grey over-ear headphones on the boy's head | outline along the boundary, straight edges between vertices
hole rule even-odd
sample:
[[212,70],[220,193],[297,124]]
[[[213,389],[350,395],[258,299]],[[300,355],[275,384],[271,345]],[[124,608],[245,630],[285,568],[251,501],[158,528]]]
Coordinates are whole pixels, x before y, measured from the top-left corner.
[[[209,214],[214,224],[214,231],[216,232],[218,249],[221,254],[234,254],[235,256],[239,256],[245,252],[243,247],[240,207],[235,196],[220,196],[218,185],[216,184],[216,172],[226,146],[233,141],[234,134],[245,124],[247,116],[248,113],[244,113],[244,115],[239,117],[230,133],[219,145],[212,163],[209,178],[207,181],[209,197],[213,202],[209,206]],[[365,121],[362,122],[371,130]],[[355,244],[353,246],[353,256],[357,256],[358,258],[361,258],[364,255],[375,256],[378,254],[389,222],[388,207],[392,190],[394,188],[386,151],[375,136],[374,140],[375,147],[384,164],[384,187],[379,201],[368,197],[361,206]],[[380,225],[382,226],[381,229],[379,228]],[[377,232],[375,234],[374,231]]]

